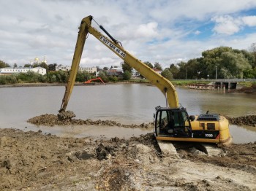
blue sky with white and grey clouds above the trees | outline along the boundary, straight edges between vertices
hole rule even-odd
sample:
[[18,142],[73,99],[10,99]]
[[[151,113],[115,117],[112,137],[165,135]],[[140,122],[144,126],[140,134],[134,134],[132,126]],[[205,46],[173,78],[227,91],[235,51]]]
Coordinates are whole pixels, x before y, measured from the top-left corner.
[[[256,42],[255,0],[0,0],[0,60],[23,66],[45,57],[71,66],[80,21],[89,15],[136,58],[163,68],[214,47],[248,50]],[[121,62],[88,36],[80,66]]]

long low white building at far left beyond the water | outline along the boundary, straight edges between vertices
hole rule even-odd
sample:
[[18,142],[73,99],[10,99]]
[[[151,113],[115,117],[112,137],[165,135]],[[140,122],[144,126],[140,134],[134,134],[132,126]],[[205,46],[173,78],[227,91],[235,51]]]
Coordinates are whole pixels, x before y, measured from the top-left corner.
[[4,74],[18,74],[18,73],[27,73],[28,71],[34,71],[37,74],[45,75],[46,69],[42,67],[36,67],[36,68],[2,68],[0,69],[0,75]]

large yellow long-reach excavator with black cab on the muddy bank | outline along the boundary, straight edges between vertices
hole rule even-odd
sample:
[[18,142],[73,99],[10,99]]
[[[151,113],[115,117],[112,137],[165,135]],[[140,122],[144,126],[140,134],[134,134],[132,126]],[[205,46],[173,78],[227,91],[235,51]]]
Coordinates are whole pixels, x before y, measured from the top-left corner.
[[[189,116],[187,109],[178,104],[176,89],[169,80],[157,74],[157,72],[145,63],[135,58],[127,50],[124,50],[121,42],[114,39],[105,28],[99,26],[108,37],[97,31],[96,28],[91,26],[92,20],[94,20],[93,17],[88,16],[83,18],[80,23],[69,79],[59,113],[64,113],[67,108],[75,84],[75,77],[78,73],[83,47],[88,34],[91,34],[118,55],[125,63],[132,66],[133,69],[148,79],[151,84],[157,86],[165,95],[166,106],[157,106],[156,114],[154,114],[154,135],[157,140],[195,141],[217,144],[224,144],[231,141],[229,122],[225,117],[219,114],[208,114],[208,112],[206,114]],[[95,23],[97,22],[95,21]]]

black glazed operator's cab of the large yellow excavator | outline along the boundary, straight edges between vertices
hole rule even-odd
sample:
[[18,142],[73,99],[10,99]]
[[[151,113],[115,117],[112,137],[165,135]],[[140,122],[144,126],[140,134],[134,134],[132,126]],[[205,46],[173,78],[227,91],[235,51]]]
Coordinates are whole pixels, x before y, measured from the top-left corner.
[[154,119],[155,136],[161,137],[191,137],[192,128],[187,110],[162,108],[158,106]]

